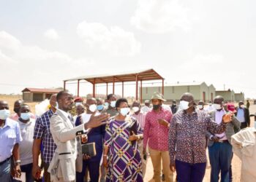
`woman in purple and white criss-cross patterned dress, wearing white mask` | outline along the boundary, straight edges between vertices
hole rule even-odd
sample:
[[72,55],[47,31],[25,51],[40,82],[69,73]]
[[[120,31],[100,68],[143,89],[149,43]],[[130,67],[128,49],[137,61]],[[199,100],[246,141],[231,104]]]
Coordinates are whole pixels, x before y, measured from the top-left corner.
[[143,137],[142,130],[136,119],[127,115],[129,107],[126,99],[118,99],[116,109],[118,115],[110,119],[104,139],[106,182],[141,182],[143,175],[137,141]]

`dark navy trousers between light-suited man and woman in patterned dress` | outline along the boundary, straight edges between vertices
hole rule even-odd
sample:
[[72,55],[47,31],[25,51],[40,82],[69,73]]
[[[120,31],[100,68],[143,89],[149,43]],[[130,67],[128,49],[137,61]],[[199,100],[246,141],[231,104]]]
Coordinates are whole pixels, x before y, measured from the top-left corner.
[[83,170],[81,173],[76,173],[76,181],[83,182],[83,177],[86,174],[86,167],[88,167],[91,182],[99,181],[99,162],[100,161],[90,161],[83,160]]

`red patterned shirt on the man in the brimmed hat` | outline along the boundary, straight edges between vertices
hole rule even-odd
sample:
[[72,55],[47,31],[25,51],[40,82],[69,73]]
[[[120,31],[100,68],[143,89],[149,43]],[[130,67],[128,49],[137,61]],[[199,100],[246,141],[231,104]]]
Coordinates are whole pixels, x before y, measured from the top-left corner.
[[159,112],[153,109],[146,114],[145,127],[143,132],[143,147],[148,146],[157,151],[168,151],[168,131],[169,128],[159,124],[158,119],[165,119],[170,123],[173,114],[161,108]]

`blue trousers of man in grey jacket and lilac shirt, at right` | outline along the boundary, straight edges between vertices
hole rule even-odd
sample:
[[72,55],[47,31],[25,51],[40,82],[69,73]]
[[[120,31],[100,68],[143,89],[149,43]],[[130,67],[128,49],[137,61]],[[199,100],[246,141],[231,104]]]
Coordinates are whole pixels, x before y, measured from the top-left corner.
[[229,182],[229,170],[232,159],[232,146],[230,143],[214,142],[208,147],[209,159],[211,164],[211,182],[219,181],[219,172],[221,173],[221,182]]

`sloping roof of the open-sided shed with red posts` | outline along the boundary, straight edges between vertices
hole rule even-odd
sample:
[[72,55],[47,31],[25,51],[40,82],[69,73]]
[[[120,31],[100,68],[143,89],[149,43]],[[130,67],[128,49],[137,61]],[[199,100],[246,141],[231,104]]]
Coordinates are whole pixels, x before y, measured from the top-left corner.
[[164,79],[160,76],[154,69],[146,69],[140,71],[127,71],[119,74],[102,74],[102,75],[91,75],[91,76],[79,76],[72,79],[65,79],[64,82],[86,80],[87,82],[102,84],[113,82],[135,82],[136,76],[138,76],[138,81],[142,80],[154,80],[154,79]]

